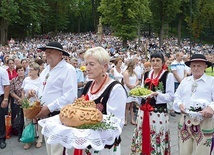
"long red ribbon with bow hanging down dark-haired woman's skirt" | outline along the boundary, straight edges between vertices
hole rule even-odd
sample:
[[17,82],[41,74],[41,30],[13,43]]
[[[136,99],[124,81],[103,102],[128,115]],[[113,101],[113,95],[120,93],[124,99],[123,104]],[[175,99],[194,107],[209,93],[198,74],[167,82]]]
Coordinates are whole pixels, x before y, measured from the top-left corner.
[[146,103],[140,107],[144,112],[142,121],[142,154],[150,155],[151,152],[151,137],[150,137],[150,112],[154,108],[149,104],[150,98],[147,98]]

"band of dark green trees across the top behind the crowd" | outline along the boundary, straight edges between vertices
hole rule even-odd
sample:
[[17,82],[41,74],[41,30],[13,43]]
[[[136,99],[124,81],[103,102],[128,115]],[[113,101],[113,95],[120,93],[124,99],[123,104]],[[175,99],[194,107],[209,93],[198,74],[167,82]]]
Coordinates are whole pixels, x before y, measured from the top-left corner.
[[113,35],[133,40],[154,32],[214,40],[213,0],[0,0],[0,44],[8,38],[38,34],[97,31],[99,18]]

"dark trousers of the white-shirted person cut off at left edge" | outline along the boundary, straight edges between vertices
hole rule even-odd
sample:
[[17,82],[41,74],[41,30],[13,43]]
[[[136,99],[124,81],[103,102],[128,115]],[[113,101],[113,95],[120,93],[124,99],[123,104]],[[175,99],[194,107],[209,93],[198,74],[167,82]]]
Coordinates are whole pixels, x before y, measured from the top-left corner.
[[[0,103],[3,101],[3,99],[4,95],[1,95]],[[6,140],[5,113],[6,108],[0,107],[0,142]]]

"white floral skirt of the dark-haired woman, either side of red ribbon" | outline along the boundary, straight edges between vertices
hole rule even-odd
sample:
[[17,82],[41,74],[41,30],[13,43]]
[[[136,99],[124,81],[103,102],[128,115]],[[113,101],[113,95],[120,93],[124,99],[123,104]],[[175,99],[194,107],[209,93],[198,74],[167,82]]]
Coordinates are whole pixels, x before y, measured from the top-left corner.
[[[142,155],[142,121],[144,112],[138,111],[137,126],[131,144],[130,155]],[[150,137],[152,155],[170,155],[169,116],[167,113],[150,112]]]

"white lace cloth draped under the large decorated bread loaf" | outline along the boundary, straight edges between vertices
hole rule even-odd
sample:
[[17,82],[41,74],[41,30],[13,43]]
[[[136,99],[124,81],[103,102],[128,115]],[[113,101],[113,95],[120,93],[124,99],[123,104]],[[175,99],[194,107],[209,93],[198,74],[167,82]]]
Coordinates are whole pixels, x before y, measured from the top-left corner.
[[115,138],[122,133],[121,120],[119,118],[103,115],[103,121],[109,122],[115,128],[92,130],[67,127],[62,125],[59,115],[42,119],[39,124],[42,126],[42,134],[48,138],[48,144],[59,143],[68,149],[72,147],[85,149],[91,145],[95,150],[102,150],[105,145],[112,145]]

